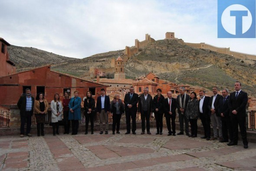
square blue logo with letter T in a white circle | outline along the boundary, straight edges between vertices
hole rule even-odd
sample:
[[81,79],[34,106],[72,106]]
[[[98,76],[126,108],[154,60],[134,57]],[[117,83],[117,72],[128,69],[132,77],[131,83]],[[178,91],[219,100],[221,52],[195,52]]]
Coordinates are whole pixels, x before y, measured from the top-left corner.
[[255,38],[255,0],[218,0],[218,38]]

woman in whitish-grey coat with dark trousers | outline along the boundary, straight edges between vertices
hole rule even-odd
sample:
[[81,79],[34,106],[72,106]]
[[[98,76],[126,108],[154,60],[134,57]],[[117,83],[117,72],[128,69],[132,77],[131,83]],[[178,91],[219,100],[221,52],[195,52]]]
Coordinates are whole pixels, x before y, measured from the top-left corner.
[[[59,120],[62,120],[62,104],[59,101],[59,94],[56,93],[54,95],[54,100],[51,101],[51,109],[52,109],[52,123],[53,123],[53,135],[59,135]],[[56,132],[55,132],[56,127]]]

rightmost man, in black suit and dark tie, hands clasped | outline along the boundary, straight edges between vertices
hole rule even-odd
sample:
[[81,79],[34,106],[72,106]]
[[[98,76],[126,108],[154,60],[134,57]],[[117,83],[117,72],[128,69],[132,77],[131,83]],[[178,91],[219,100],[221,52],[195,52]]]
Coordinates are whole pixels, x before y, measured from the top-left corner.
[[228,146],[237,145],[238,141],[238,125],[243,139],[243,147],[248,148],[247,133],[246,133],[246,104],[248,95],[241,90],[241,83],[235,82],[235,92],[230,93],[228,106],[230,108],[230,117],[233,126],[233,139]]

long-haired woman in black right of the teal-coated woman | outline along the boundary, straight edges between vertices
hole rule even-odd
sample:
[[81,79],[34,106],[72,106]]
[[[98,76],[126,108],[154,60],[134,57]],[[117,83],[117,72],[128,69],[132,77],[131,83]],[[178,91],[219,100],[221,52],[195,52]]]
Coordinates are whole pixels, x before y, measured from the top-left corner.
[[94,126],[94,115],[95,115],[95,100],[92,98],[92,92],[86,92],[86,98],[84,100],[84,110],[85,110],[85,134],[88,134],[89,119],[91,121],[91,134],[93,134]]

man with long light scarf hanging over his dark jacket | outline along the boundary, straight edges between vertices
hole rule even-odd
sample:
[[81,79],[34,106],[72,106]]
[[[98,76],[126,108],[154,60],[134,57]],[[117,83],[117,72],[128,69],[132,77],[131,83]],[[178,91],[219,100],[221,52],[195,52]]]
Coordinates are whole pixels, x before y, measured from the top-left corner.
[[178,108],[178,114],[179,114],[179,122],[180,122],[180,133],[177,133],[177,135],[183,135],[184,134],[184,121],[185,121],[185,133],[187,136],[189,136],[189,128],[188,123],[189,120],[186,116],[186,108],[187,108],[187,102],[189,101],[190,96],[187,95],[185,92],[185,88],[180,88],[180,95],[177,96],[177,108]]

